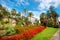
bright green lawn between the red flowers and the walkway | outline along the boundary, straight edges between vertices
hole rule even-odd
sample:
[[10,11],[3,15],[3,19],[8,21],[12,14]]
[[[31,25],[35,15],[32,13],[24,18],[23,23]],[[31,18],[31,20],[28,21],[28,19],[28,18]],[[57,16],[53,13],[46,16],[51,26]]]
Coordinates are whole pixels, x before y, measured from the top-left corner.
[[35,35],[31,40],[50,40],[50,38],[56,33],[57,28],[46,28],[44,31]]

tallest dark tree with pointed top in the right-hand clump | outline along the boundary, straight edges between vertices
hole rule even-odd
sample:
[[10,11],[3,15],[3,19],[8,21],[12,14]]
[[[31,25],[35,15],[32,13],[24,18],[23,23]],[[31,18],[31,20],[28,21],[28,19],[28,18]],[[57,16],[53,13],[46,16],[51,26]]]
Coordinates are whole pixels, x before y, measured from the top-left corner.
[[56,13],[54,7],[50,6],[49,11],[47,11],[47,20],[53,20],[54,25],[56,25],[58,16],[59,15]]

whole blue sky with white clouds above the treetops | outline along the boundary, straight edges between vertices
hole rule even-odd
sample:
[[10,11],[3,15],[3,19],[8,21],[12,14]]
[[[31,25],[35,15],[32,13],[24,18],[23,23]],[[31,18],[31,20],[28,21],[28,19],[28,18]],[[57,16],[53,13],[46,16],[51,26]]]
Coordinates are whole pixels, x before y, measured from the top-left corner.
[[29,12],[33,12],[35,17],[49,10],[51,5],[55,7],[58,14],[60,13],[60,0],[0,0],[0,4],[7,7],[9,11],[15,8],[16,11],[22,12],[26,8]]

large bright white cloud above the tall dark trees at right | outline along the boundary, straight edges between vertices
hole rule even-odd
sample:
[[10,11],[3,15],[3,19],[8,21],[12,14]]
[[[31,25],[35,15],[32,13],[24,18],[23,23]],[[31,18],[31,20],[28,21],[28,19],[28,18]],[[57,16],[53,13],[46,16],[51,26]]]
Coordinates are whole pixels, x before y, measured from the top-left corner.
[[43,9],[49,9],[51,5],[54,7],[57,7],[60,5],[60,0],[35,0],[35,2],[39,2],[38,9],[43,10]]

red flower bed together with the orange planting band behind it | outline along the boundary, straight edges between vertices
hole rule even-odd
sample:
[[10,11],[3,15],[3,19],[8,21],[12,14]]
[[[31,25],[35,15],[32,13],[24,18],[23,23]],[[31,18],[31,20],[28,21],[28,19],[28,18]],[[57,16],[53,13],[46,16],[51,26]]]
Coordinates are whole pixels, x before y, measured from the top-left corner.
[[30,40],[38,32],[44,30],[44,27],[25,27],[19,28],[19,34],[1,38],[1,40]]

